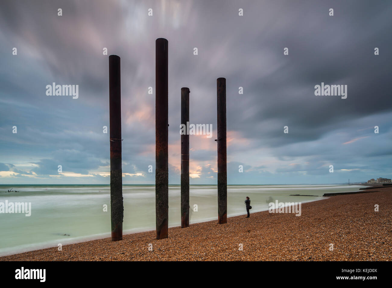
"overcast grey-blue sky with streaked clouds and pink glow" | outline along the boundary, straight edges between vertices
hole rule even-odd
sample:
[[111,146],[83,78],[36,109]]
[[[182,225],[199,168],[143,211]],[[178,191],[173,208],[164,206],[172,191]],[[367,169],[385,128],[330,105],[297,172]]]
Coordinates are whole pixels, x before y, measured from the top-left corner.
[[[189,87],[190,122],[213,127],[190,136],[190,182],[216,184],[219,77],[229,184],[391,178],[390,15],[390,1],[2,0],[0,184],[110,183],[110,54],[121,57],[123,183],[154,184],[156,38],[169,41],[169,183],[180,183]],[[78,99],[47,96],[53,82],[79,85]],[[347,85],[347,99],[315,96],[321,82]]]

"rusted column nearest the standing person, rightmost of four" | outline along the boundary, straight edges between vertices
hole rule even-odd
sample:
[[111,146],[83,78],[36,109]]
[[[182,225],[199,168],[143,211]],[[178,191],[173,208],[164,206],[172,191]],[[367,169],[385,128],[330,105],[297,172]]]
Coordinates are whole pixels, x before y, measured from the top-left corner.
[[218,118],[218,222],[227,223],[226,78],[216,79]]

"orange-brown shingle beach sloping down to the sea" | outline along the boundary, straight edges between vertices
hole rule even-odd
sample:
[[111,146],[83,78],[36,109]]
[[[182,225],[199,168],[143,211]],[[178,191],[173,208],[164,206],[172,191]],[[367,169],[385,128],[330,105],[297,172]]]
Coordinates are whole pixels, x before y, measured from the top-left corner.
[[[0,261],[391,261],[392,187],[379,191],[304,203],[299,217],[263,211],[250,218],[230,217],[223,225],[214,220],[169,228],[168,239],[154,239],[155,231],[142,232],[124,235],[123,241],[105,238]],[[375,204],[379,212],[374,211]]]

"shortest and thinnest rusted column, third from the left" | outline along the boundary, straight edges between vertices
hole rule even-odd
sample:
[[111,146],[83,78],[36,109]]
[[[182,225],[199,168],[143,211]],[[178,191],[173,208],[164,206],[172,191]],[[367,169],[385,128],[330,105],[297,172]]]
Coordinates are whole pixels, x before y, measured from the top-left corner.
[[[181,124],[189,122],[189,88],[181,88]],[[189,134],[181,135],[181,228],[189,227]]]

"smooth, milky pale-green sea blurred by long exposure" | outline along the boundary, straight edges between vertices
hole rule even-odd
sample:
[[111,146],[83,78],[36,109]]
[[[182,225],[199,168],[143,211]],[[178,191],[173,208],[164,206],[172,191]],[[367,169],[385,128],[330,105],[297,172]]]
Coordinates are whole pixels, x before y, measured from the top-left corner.
[[[58,243],[67,244],[110,237],[109,185],[0,185],[0,202],[31,202],[31,216],[0,213],[0,255],[15,254]],[[229,185],[228,217],[268,210],[268,203],[310,202],[324,193],[352,192],[363,186],[348,185]],[[6,193],[4,193],[6,192]],[[191,185],[190,223],[218,219],[216,185]],[[290,194],[316,195],[289,196]],[[155,186],[123,185],[124,234],[155,230]],[[108,211],[103,212],[103,205]],[[198,211],[194,212],[194,205]],[[169,186],[169,226],[180,226],[180,185]],[[67,235],[64,235],[67,234]],[[68,236],[69,235],[69,236]]]

